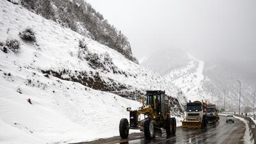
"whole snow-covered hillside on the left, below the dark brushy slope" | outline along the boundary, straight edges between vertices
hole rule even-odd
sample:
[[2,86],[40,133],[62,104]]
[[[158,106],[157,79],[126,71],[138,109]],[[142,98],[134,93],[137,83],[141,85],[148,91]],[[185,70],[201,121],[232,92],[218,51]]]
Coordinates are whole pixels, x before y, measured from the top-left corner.
[[[0,143],[116,136],[145,90],[166,90],[173,116],[183,115],[184,95],[164,77],[19,4],[0,4]],[[20,38],[28,27],[36,42]]]

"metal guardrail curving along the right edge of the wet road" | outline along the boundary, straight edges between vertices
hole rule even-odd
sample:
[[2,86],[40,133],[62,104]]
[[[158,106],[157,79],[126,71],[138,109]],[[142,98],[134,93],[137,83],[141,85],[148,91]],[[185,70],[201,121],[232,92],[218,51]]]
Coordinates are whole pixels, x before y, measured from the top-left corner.
[[250,132],[250,136],[251,136],[251,141],[252,139],[254,140],[254,143],[256,144],[256,129],[255,129],[255,122],[252,120],[252,117],[247,116],[247,115],[238,115],[238,114],[234,114],[234,113],[222,113],[222,114],[230,114],[230,115],[234,115],[240,118],[243,118],[244,120],[247,121],[248,127],[249,127],[249,132]]

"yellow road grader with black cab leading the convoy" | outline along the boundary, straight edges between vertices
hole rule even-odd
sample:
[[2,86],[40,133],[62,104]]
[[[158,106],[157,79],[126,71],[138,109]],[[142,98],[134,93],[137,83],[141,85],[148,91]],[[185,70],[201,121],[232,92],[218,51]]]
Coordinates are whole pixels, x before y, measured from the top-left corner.
[[129,129],[140,129],[144,132],[145,139],[150,140],[156,135],[162,135],[164,129],[166,135],[175,134],[176,119],[170,117],[170,106],[165,100],[165,92],[161,90],[147,91],[141,97],[142,106],[137,110],[127,108],[130,113],[129,121],[122,118],[119,124],[120,137],[128,138]]

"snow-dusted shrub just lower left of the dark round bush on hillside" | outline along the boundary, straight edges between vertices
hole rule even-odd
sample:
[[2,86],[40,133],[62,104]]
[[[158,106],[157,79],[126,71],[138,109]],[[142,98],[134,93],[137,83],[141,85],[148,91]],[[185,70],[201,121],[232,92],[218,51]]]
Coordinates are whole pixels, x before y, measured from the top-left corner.
[[18,53],[20,50],[19,40],[8,38],[3,46],[3,51],[8,52],[8,49],[12,50],[15,53]]

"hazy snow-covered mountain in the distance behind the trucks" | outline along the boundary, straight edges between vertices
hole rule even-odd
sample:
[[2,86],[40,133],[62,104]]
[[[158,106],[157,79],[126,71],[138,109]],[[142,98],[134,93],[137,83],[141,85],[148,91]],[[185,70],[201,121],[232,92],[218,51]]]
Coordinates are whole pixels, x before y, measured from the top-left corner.
[[[197,60],[185,51],[175,49],[168,51],[175,56],[170,58],[171,55],[165,55],[163,52],[154,53],[154,56],[147,58],[142,65],[163,74],[166,80],[184,92],[187,100],[207,100],[207,102],[214,102],[219,107],[223,107],[225,89],[225,108],[230,111],[237,111],[239,106],[239,83],[237,79],[239,79],[242,81],[241,107],[253,106],[252,84],[246,82],[241,74],[220,63]],[[167,58],[161,58],[161,56]],[[156,58],[159,59],[156,60]],[[177,61],[179,61],[179,65],[177,65]],[[161,63],[160,66],[159,63]],[[166,65],[166,63],[170,65],[162,68],[164,67],[162,65]]]

